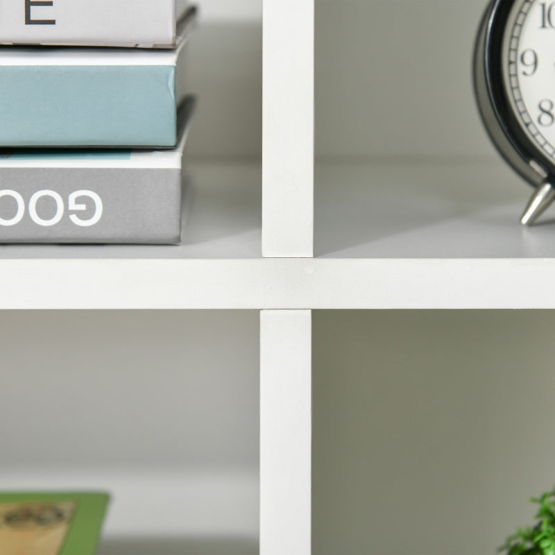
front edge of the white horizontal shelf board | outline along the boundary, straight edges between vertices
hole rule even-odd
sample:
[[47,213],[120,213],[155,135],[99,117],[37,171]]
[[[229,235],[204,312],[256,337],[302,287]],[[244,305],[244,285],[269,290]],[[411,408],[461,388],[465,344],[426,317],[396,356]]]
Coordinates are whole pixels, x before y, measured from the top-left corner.
[[555,259],[3,260],[0,309],[555,309]]

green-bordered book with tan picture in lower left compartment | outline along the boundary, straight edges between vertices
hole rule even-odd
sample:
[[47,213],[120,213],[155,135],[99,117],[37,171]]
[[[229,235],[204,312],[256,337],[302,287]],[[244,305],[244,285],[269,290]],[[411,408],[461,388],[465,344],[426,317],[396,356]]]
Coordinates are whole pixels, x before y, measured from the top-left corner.
[[0,493],[2,555],[94,555],[106,493]]

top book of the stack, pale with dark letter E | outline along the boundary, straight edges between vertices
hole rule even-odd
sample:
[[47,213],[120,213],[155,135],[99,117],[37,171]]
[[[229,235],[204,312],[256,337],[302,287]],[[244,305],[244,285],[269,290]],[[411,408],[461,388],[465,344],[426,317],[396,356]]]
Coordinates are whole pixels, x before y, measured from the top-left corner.
[[173,48],[187,0],[0,0],[0,44]]

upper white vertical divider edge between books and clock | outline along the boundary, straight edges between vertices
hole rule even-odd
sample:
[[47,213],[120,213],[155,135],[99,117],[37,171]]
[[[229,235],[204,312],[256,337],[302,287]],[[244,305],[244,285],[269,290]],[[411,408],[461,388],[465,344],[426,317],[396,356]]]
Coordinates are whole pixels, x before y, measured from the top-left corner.
[[262,255],[314,253],[314,0],[264,0]]

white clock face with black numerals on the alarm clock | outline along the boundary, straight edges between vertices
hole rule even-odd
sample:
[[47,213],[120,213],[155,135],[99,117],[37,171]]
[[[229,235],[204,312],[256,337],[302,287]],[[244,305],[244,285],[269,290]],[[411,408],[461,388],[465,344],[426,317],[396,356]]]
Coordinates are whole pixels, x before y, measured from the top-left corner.
[[555,1],[515,0],[502,74],[520,128],[555,164]]

